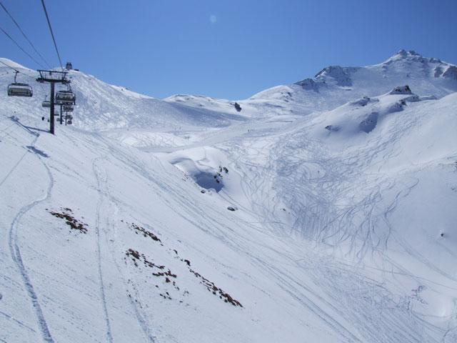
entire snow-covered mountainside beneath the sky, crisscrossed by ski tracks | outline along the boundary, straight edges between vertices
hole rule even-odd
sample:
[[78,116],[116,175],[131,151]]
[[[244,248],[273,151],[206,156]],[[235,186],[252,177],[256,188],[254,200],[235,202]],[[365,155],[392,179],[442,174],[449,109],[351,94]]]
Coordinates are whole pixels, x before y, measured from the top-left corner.
[[14,67],[0,342],[457,342],[456,66],[400,51],[241,101],[71,71],[55,136]]

